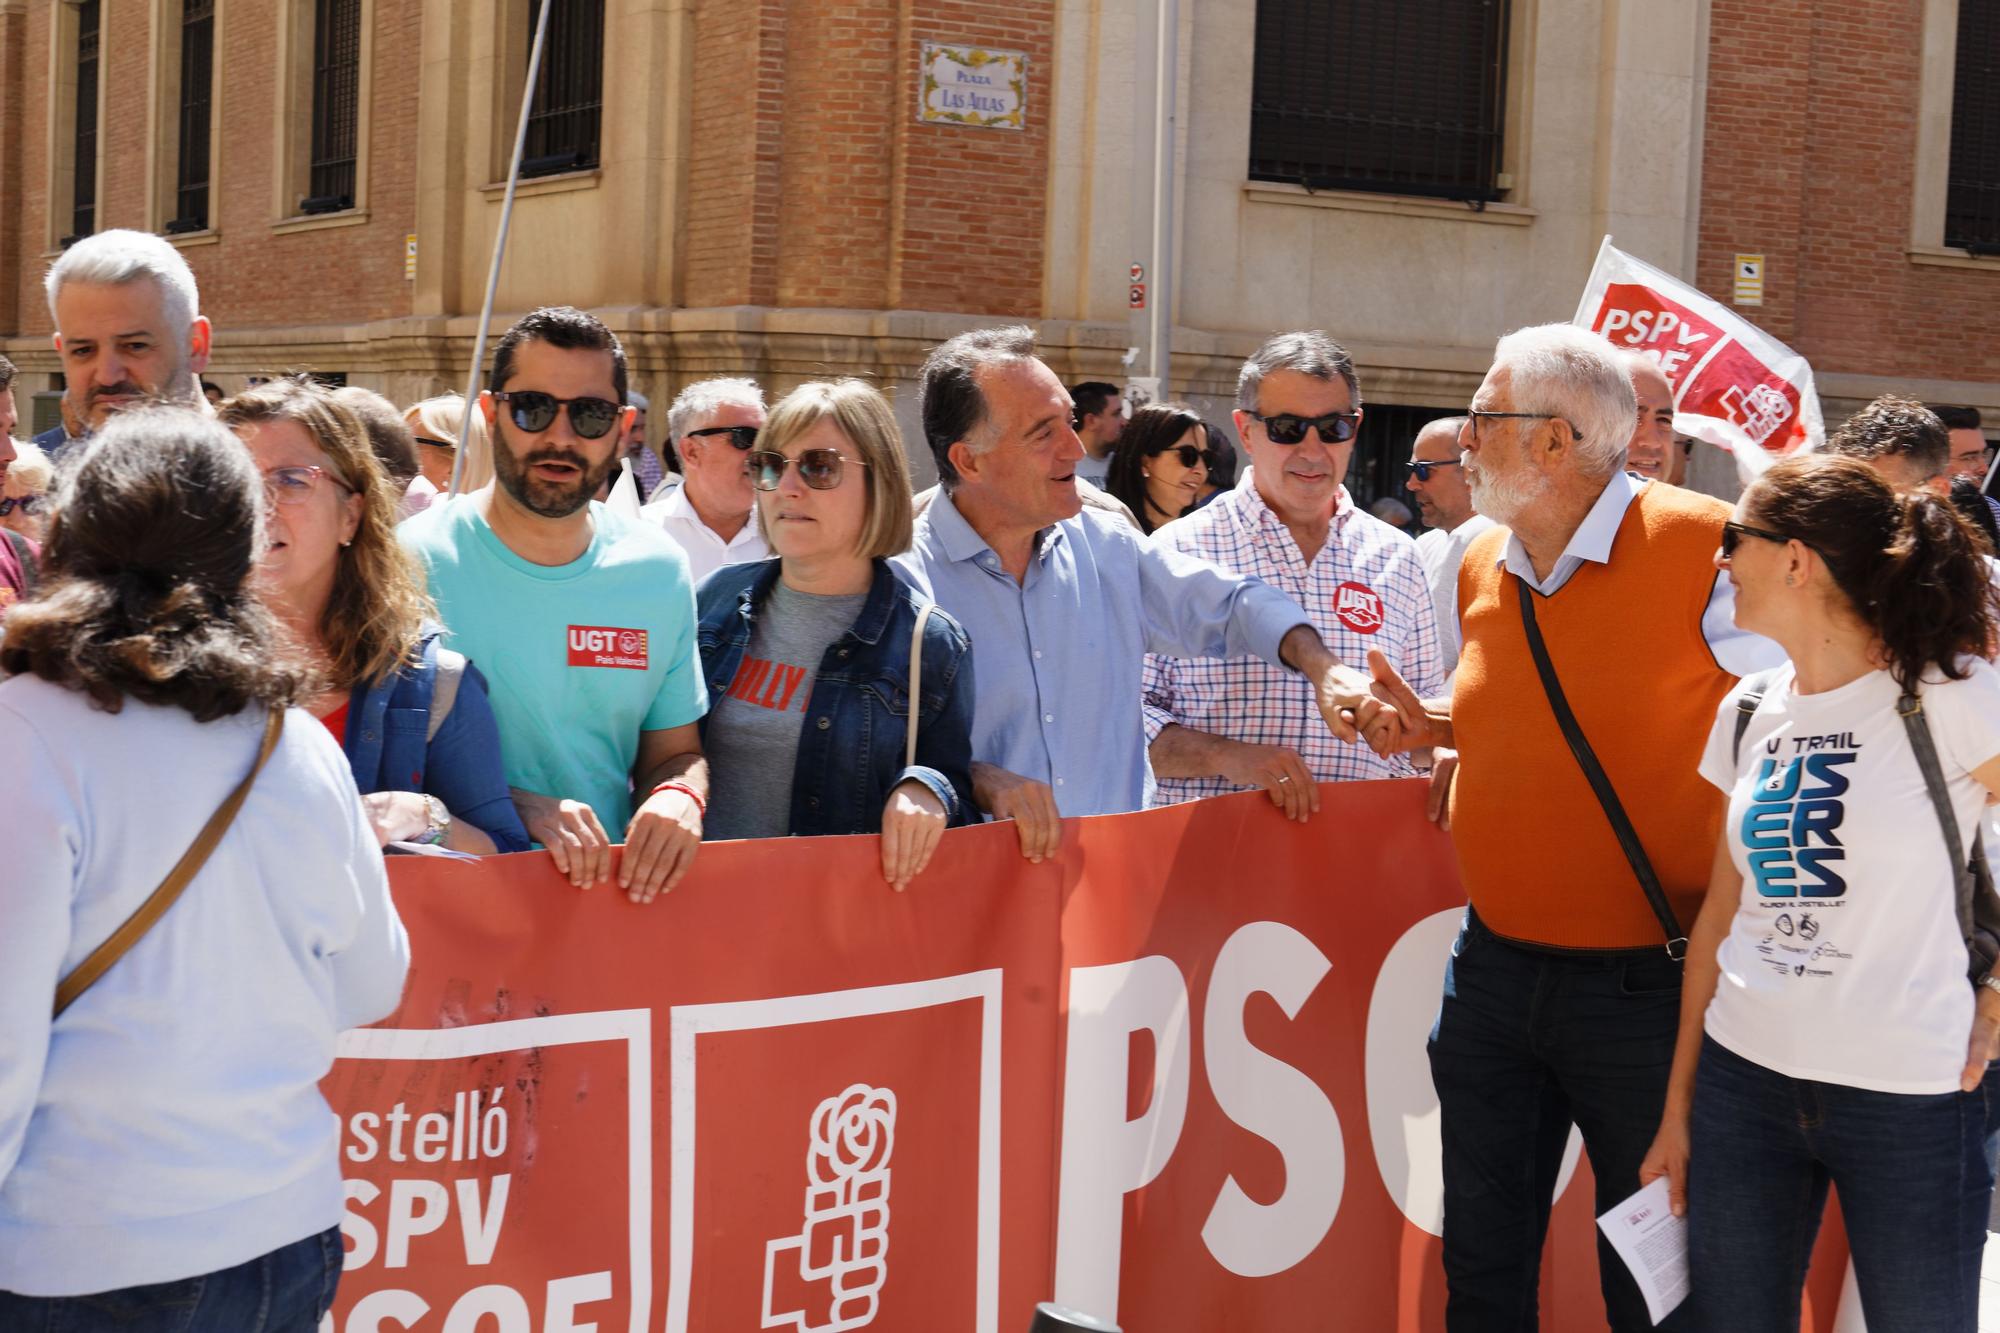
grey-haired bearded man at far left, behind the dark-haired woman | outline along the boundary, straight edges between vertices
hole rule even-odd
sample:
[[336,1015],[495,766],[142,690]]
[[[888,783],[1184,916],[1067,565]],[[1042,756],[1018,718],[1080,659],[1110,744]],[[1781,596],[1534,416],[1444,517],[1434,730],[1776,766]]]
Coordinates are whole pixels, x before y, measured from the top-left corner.
[[62,426],[36,436],[54,458],[104,418],[150,398],[202,398],[208,320],[180,250],[150,232],[110,230],[62,252],[42,278],[62,358]]

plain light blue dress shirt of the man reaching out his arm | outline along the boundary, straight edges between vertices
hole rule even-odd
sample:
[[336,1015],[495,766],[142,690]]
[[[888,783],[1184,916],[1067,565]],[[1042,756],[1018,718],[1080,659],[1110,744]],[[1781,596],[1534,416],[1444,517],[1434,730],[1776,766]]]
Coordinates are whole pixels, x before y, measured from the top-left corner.
[[1146,809],[1146,652],[1276,662],[1310,624],[1276,588],[1094,508],[1036,532],[1014,582],[940,490],[896,562],[972,636],[972,759],[1048,783],[1064,817]]

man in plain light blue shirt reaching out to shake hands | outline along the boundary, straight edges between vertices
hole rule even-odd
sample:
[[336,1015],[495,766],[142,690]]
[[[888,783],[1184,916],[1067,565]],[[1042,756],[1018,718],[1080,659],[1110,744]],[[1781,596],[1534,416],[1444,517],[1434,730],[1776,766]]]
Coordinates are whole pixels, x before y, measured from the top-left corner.
[[1380,707],[1288,596],[1082,506],[1070,394],[1032,330],[940,344],[922,416],[942,492],[898,560],[972,636],[972,795],[1020,821],[1026,857],[1056,851],[1064,817],[1144,809],[1146,652],[1290,666],[1344,741]]

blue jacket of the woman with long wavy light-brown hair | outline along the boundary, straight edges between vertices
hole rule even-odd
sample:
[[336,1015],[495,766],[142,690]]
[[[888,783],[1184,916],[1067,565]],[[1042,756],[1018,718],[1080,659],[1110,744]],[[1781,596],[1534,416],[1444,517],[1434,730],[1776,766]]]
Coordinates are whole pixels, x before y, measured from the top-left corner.
[[348,695],[348,731],[340,749],[354,785],[372,791],[420,791],[444,803],[452,819],[480,829],[504,853],[528,851],[528,831],[514,809],[500,767],[500,725],[486,699],[486,677],[466,662],[458,697],[430,737],[430,695],[438,679],[440,630],[424,626],[418,660]]

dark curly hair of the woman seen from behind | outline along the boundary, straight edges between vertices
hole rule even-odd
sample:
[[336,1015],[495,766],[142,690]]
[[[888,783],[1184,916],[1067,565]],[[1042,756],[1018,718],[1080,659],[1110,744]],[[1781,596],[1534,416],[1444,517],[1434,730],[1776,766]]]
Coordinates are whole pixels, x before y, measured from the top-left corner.
[[42,590],[6,618],[0,671],[200,723],[282,709],[304,671],[252,586],[264,478],[220,424],[174,406],[120,412],[64,478]]

